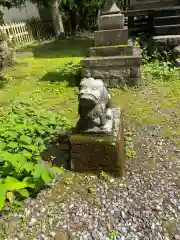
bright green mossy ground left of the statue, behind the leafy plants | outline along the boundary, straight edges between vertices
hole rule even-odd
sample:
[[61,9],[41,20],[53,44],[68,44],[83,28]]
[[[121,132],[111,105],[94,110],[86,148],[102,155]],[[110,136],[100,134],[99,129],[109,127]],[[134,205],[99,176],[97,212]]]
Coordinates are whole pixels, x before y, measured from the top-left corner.
[[[77,94],[74,79],[66,71],[67,63],[78,63],[91,45],[91,41],[55,41],[34,44],[17,52],[19,65],[5,71],[7,81],[0,89],[3,113],[12,101],[77,118]],[[64,71],[65,70],[65,71]]]

